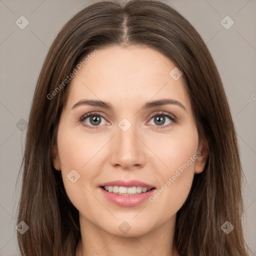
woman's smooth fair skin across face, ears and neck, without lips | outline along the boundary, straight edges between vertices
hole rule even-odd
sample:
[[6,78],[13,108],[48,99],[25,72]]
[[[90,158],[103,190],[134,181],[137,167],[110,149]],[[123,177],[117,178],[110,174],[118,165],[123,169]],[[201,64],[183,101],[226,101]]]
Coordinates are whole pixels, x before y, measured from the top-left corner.
[[[205,142],[198,139],[183,77],[174,80],[169,72],[175,64],[146,46],[98,50],[67,85],[70,91],[54,145],[54,167],[61,170],[67,195],[79,211],[81,241],[76,256],[179,255],[172,246],[176,212],[208,156]],[[179,101],[185,110],[176,104],[141,109],[145,102],[162,98]],[[113,109],[90,105],[72,109],[82,99],[100,99]],[[90,117],[79,121],[93,111],[102,114],[98,125]],[[157,125],[150,114],[159,111],[171,113],[176,122],[165,117]],[[123,118],[131,123],[125,132],[118,126]],[[160,189],[197,151],[200,156],[153,202],[119,206],[98,187],[111,180],[137,179]],[[72,169],[80,175],[74,183],[67,178]],[[126,233],[118,228],[123,221],[131,227]]]

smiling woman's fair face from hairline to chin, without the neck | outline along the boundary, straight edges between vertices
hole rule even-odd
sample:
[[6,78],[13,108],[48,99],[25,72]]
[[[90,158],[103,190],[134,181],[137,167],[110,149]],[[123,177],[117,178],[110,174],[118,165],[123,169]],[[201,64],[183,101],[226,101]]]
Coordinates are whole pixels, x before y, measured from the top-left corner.
[[66,85],[54,167],[80,224],[145,234],[174,221],[205,164],[184,79],[149,47],[115,45],[92,55]]

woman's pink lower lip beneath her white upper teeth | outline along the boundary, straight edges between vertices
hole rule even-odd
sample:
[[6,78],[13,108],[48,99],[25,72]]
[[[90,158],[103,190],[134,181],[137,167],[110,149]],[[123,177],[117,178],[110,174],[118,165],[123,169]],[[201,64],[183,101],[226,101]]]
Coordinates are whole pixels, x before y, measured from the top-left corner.
[[142,192],[142,193],[133,194],[133,195],[115,194],[115,193],[106,191],[102,187],[100,187],[100,189],[109,201],[111,201],[117,205],[135,206],[135,205],[138,205],[139,203],[145,201],[146,199],[148,199],[148,197],[153,194],[153,192],[156,188],[151,189],[147,192]]

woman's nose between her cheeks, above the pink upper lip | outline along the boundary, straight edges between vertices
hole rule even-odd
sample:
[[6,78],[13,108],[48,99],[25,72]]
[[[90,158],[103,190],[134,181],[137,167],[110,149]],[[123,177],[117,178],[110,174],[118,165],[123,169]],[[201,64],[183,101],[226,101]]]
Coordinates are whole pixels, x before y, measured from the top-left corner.
[[146,146],[135,125],[123,131],[117,127],[117,134],[111,141],[110,162],[112,166],[122,169],[138,169],[145,164]]

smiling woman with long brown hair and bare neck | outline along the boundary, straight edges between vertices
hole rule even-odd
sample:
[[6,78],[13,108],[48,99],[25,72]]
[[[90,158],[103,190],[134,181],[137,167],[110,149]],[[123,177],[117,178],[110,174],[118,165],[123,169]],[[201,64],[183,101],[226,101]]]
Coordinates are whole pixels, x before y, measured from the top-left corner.
[[97,2],[64,25],[22,164],[22,255],[248,255],[221,79],[164,3]]

